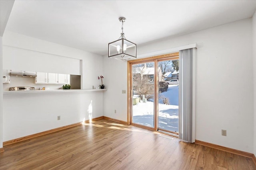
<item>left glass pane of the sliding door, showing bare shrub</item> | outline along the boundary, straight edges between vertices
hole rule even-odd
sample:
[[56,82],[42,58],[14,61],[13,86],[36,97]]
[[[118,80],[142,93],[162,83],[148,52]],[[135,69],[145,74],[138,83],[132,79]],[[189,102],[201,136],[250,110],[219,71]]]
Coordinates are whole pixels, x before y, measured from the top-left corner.
[[154,127],[154,62],[132,65],[132,123]]

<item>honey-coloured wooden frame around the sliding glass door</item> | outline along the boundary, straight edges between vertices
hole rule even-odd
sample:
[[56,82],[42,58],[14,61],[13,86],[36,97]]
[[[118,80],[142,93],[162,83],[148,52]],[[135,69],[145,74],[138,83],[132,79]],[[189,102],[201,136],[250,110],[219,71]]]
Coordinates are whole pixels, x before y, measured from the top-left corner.
[[158,69],[154,69],[154,127],[146,127],[143,125],[139,125],[136,123],[132,123],[132,65],[133,64],[141,64],[141,63],[150,63],[154,62],[155,66],[158,68],[158,61],[163,61],[166,59],[175,60],[179,59],[179,52],[169,53],[164,55],[158,55],[153,57],[147,57],[142,59],[130,60],[127,62],[127,123],[128,125],[134,125],[138,127],[142,127],[144,129],[150,129],[153,131],[158,130],[158,116],[155,116],[158,111]]

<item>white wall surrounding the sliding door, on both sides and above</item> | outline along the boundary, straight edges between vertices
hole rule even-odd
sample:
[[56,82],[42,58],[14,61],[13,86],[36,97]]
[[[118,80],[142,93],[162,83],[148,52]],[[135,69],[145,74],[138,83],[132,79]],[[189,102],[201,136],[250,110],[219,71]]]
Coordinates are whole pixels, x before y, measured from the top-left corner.
[[[253,153],[252,19],[166,38],[138,55],[197,43],[196,139]],[[104,57],[104,116],[127,120],[127,63]],[[243,81],[239,81],[243,78]],[[117,113],[114,113],[117,109]],[[221,135],[227,130],[227,136]]]

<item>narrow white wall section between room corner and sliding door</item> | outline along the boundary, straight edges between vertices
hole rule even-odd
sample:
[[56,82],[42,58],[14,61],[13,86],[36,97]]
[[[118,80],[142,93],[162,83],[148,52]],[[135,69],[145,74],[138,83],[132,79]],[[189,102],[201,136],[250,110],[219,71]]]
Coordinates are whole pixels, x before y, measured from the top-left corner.
[[104,116],[127,121],[127,62],[104,56],[103,63],[104,84],[108,89],[104,93]]

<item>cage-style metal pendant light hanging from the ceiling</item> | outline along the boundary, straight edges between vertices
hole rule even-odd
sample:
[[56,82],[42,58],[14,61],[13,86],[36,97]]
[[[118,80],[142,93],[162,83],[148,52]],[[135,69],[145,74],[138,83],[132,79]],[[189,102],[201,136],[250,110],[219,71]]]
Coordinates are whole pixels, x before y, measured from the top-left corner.
[[125,20],[124,17],[119,18],[119,21],[122,22],[122,33],[118,40],[108,43],[108,57],[122,61],[137,58],[136,44],[124,37],[123,26]]

